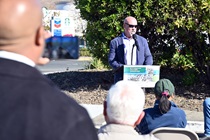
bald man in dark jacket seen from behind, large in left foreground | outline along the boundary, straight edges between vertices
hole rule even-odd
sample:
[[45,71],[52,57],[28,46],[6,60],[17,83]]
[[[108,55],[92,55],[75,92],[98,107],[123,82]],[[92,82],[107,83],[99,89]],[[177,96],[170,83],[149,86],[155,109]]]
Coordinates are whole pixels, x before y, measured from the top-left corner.
[[0,19],[0,140],[97,140],[87,111],[35,68],[40,0],[0,0]]

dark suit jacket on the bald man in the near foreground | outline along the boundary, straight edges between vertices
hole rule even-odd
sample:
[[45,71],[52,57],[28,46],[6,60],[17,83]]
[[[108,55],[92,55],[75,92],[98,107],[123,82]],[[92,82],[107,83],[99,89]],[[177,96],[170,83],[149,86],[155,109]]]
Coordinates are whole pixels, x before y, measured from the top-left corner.
[[36,68],[0,58],[0,140],[97,140],[87,111]]

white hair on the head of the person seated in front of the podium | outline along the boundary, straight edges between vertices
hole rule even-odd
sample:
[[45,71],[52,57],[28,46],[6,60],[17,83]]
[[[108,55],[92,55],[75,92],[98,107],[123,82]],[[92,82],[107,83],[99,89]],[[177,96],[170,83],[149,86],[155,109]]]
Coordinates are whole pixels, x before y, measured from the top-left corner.
[[143,111],[145,94],[136,82],[119,81],[109,89],[106,102],[110,122],[134,125]]

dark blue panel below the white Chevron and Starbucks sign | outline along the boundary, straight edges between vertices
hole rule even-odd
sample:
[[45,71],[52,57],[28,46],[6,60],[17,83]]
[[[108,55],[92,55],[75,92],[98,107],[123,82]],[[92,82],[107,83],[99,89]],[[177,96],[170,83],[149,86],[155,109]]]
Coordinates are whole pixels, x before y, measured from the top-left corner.
[[44,57],[50,59],[78,59],[78,37],[54,36],[46,40]]

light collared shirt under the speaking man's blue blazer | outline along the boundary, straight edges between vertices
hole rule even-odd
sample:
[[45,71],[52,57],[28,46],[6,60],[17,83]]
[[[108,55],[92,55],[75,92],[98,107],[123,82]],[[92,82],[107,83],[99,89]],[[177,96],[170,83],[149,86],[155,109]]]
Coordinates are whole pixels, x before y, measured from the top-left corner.
[[129,39],[122,33],[124,44],[124,56],[126,65],[136,65],[136,47],[134,47],[134,39]]

